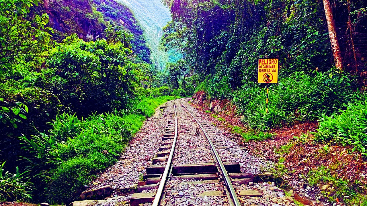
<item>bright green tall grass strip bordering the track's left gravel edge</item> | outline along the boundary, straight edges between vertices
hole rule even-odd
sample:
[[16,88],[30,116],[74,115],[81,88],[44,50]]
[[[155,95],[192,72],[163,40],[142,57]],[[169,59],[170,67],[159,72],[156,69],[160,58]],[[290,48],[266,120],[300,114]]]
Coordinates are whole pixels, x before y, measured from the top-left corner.
[[145,98],[130,112],[93,114],[86,119],[64,113],[49,123],[47,133],[19,137],[22,149],[31,155],[24,159],[30,163],[32,181],[38,184],[36,198],[52,203],[73,201],[97,173],[117,161],[145,118],[172,99]]

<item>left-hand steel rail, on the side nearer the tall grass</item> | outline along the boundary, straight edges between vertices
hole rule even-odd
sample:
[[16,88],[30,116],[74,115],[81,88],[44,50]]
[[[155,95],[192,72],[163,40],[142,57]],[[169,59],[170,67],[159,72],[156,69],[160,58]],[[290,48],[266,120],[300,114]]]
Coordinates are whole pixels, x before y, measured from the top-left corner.
[[173,153],[174,153],[174,150],[175,150],[176,140],[177,140],[177,111],[176,111],[176,104],[175,104],[176,100],[178,100],[178,99],[173,100],[173,107],[174,107],[174,110],[175,110],[175,137],[173,139],[170,156],[168,156],[167,165],[166,165],[166,168],[164,168],[162,179],[159,183],[157,194],[154,197],[154,201],[152,203],[152,206],[158,206],[159,205],[161,196],[163,194],[164,185],[166,184],[167,177],[170,175],[170,171],[171,171],[172,158],[173,158]]

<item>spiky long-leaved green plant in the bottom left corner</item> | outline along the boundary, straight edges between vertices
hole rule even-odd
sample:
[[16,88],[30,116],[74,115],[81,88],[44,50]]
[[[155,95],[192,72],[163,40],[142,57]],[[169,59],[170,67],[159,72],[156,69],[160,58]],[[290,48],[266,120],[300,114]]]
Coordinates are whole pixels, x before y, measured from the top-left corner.
[[29,182],[29,172],[19,172],[17,167],[15,173],[4,169],[5,162],[0,166],[0,201],[30,200],[33,184]]

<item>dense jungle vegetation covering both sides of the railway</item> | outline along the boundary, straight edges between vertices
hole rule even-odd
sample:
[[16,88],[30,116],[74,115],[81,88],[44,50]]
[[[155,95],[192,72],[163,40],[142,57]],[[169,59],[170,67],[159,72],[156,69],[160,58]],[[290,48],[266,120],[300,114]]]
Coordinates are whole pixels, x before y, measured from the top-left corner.
[[[314,141],[366,158],[367,2],[331,2],[340,67],[325,1],[163,0],[159,52],[117,0],[0,1],[0,202],[73,201],[159,104],[195,91],[252,132],[318,121]],[[280,62],[269,113],[259,58]]]

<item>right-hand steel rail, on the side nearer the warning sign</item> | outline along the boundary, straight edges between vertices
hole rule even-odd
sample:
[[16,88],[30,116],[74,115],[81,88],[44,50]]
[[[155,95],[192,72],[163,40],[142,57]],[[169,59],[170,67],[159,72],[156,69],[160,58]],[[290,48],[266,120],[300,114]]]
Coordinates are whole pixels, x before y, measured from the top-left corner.
[[[184,98],[184,99],[187,99],[187,98]],[[224,180],[226,182],[226,185],[227,185],[227,188],[229,190],[229,193],[232,197],[232,200],[235,204],[235,206],[241,206],[241,203],[236,195],[236,190],[235,188],[233,187],[232,185],[232,182],[230,181],[230,178],[229,178],[229,175],[228,175],[228,172],[227,170],[225,169],[224,165],[223,165],[223,162],[221,160],[221,158],[219,157],[219,154],[217,152],[217,150],[215,149],[214,147],[214,144],[212,143],[209,135],[207,134],[207,132],[205,131],[205,129],[203,128],[203,126],[200,124],[200,122],[194,117],[194,115],[185,107],[185,105],[183,105],[183,103],[181,102],[182,99],[179,99],[179,102],[181,103],[181,105],[190,113],[190,115],[195,119],[195,121],[197,122],[197,124],[200,126],[201,130],[203,130],[205,136],[207,137],[208,139],[208,142],[210,144],[210,147],[211,149],[213,150],[213,153],[214,153],[214,156],[215,156],[215,159],[217,159],[217,162],[219,164],[219,168],[221,169],[222,171],[222,174],[223,174],[223,177],[224,177]]]

